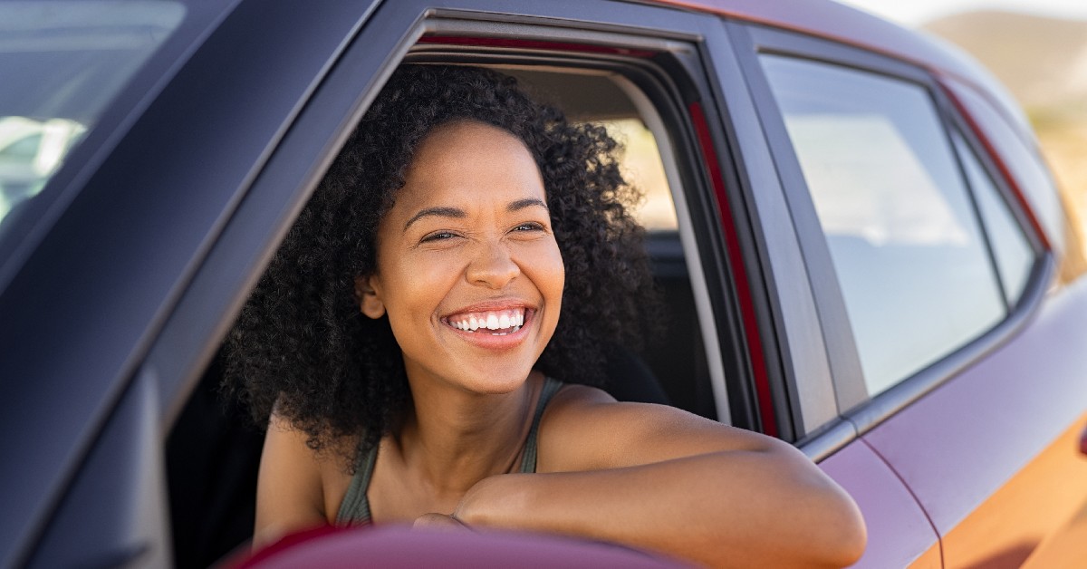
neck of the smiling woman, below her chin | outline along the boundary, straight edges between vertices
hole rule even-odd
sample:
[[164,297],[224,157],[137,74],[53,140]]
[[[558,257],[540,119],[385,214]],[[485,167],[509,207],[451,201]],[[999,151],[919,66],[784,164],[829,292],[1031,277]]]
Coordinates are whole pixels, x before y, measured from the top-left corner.
[[504,394],[410,385],[413,406],[398,437],[409,471],[439,494],[461,495],[487,477],[515,470],[542,386],[538,372]]

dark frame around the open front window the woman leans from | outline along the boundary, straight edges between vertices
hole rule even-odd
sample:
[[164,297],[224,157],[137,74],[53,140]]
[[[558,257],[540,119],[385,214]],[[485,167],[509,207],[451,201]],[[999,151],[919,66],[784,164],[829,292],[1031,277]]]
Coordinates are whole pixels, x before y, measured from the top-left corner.
[[[699,82],[704,81],[703,60],[707,57],[707,48],[701,44],[702,34],[699,33],[699,28],[705,28],[707,33],[715,30],[713,26],[717,21],[714,16],[649,5],[638,7],[637,10],[627,10],[625,13],[615,13],[608,10],[609,3],[603,1],[592,4],[578,3],[576,7],[574,3],[525,7],[523,15],[514,15],[510,14],[508,9],[501,13],[498,12],[499,4],[492,0],[450,0],[443,2],[440,8],[427,8],[423,7],[423,2],[417,2],[417,5],[401,3],[395,8],[383,5],[375,11],[373,18],[366,23],[366,27],[353,39],[355,45],[345,52],[328,78],[314,92],[314,97],[285,134],[278,148],[270,156],[264,171],[254,178],[232,220],[224,225],[218,242],[209,250],[202,267],[195,273],[192,282],[180,297],[174,313],[163,327],[162,334],[149,351],[143,367],[152,371],[162,382],[161,401],[164,430],[168,430],[173,418],[176,417],[186,400],[187,394],[199,379],[201,370],[214,356],[218,342],[233,323],[234,314],[240,309],[264,264],[292,223],[297,211],[312,193],[327,166],[327,162],[335,156],[335,152],[329,149],[338,149],[342,144],[342,140],[350,133],[350,126],[358,122],[362,110],[372,100],[376,92],[375,87],[384,84],[388,74],[391,73],[392,66],[395,66],[393,62],[401,61],[411,47],[425,34],[433,34],[439,29],[442,33],[448,33],[452,29],[450,26],[436,27],[436,23],[448,22],[457,26],[457,29],[477,29],[493,37],[502,37],[503,30],[508,33],[511,26],[537,26],[540,30],[540,39],[552,41],[558,39],[562,42],[574,44],[588,41],[590,45],[597,46],[611,42],[622,49],[639,49],[649,45],[654,46],[654,49],[669,51],[671,59],[667,65],[673,67],[665,70],[665,73],[672,76],[683,75],[687,77],[686,81],[691,82],[690,85],[684,87],[687,92],[680,98],[700,99],[703,103],[709,101],[707,104],[708,123],[714,127],[714,135],[720,134],[715,128],[720,123],[716,121],[716,110],[712,106],[713,97],[708,92],[708,87],[699,84]],[[495,11],[490,12],[488,8],[495,9]],[[413,12],[413,9],[417,11]],[[599,13],[594,13],[594,10]],[[669,18],[672,18],[671,27],[660,26],[660,18],[654,18],[654,14],[661,11],[666,11]],[[579,14],[594,23],[579,24],[577,20],[572,17],[574,14]],[[555,18],[559,15],[566,16],[564,18],[566,22],[557,22]],[[500,21],[501,25],[497,26],[496,21]],[[607,25],[600,22],[605,22]],[[639,26],[639,24],[642,25]],[[648,29],[647,24],[653,24],[657,28]],[[358,45],[372,27],[386,30],[385,35],[388,37],[383,41],[395,46],[388,50],[389,55],[370,54],[368,52],[376,50]],[[410,32],[404,32],[404,29],[410,29]],[[557,30],[562,29],[565,29],[566,33],[557,35]],[[651,37],[651,41],[647,44],[647,40],[644,39],[646,37]],[[578,55],[584,60],[582,64],[591,61],[589,55],[591,55],[590,52]],[[367,79],[358,86],[357,92],[362,95],[355,95],[354,99],[350,101],[348,99],[351,96],[328,95],[329,100],[339,100],[335,104],[317,102],[322,100],[323,91],[333,89],[330,85],[336,82],[350,81],[347,75],[370,76],[370,73],[360,72],[355,67],[355,65],[362,64],[366,58],[376,58],[374,61],[380,60],[382,71],[375,75],[376,78],[373,81]],[[373,67],[373,62],[371,66]],[[354,71],[345,71],[347,69]],[[337,75],[343,75],[343,77],[338,78]],[[639,87],[646,89],[648,86],[640,85]],[[650,87],[650,89],[652,88]],[[652,97],[650,98],[652,99]],[[664,122],[670,128],[676,129],[669,132],[669,144],[674,147],[674,153],[680,162],[677,166],[677,175],[683,178],[680,187],[684,188],[684,198],[692,203],[690,221],[697,236],[698,256],[702,263],[707,294],[711,297],[712,314],[709,317],[702,314],[702,318],[711,324],[715,323],[719,330],[724,330],[723,326],[733,325],[730,323],[738,320],[735,314],[739,311],[736,307],[735,295],[728,293],[730,286],[728,283],[732,279],[729,264],[726,260],[728,253],[721,245],[723,238],[720,236],[721,221],[716,217],[716,201],[710,195],[710,184],[705,181],[709,174],[705,172],[702,157],[697,151],[695,143],[697,134],[691,132],[694,129],[690,124],[691,120],[685,112],[684,106],[687,102],[686,100],[679,102],[684,104],[669,103],[670,107],[659,101],[654,104],[662,115],[671,113],[665,116]],[[351,111],[333,119],[332,113],[340,112],[329,110],[333,107],[349,107]],[[310,114],[314,115],[314,119],[310,119]],[[335,127],[335,135],[328,137],[328,135],[315,133],[303,134],[303,131],[311,128],[302,125],[309,121],[317,120],[318,116],[327,124],[336,122],[338,126]],[[313,145],[322,148],[323,150],[320,152],[322,158],[313,158],[316,153],[312,150],[305,154],[308,157],[305,160],[311,160],[312,163],[305,166],[309,173],[304,180],[299,180],[297,175],[290,178],[290,176],[273,174],[273,172],[277,172],[277,161],[287,160],[283,156],[292,156],[295,158],[291,160],[299,160],[296,151],[287,150],[298,144],[293,143],[292,138],[302,139],[314,136],[321,137],[320,140],[312,139],[307,144],[311,145],[311,148]],[[716,148],[720,150],[722,147],[727,149],[724,144]],[[722,161],[722,163],[730,163],[730,160]],[[285,182],[288,178],[292,182]],[[286,187],[291,184],[291,187]],[[265,186],[267,187],[265,188]],[[257,203],[258,200],[266,199],[259,197],[260,195],[267,193],[271,196],[273,191],[277,196],[274,198],[276,200],[275,217],[268,215],[267,211],[261,211],[262,209],[267,210],[270,205]],[[258,217],[261,218],[261,221],[255,221]],[[238,234],[232,235],[235,231]],[[264,244],[259,247],[261,249],[259,252],[255,252],[253,247],[232,245],[230,242],[246,240],[238,238],[246,232],[249,234],[263,232],[258,239]],[[245,269],[239,271],[241,267]],[[254,268],[261,268],[261,270],[254,270]],[[239,293],[224,294],[224,285],[228,289],[239,290]],[[201,329],[210,330],[212,333],[202,336],[195,333],[196,330]],[[729,371],[726,371],[724,375],[728,383],[726,389],[730,419],[741,426],[760,429],[758,411],[754,410],[757,404],[747,398],[747,395],[753,393],[749,386],[750,358],[746,346],[736,345],[736,339],[742,339],[745,336],[742,332],[739,334],[723,332],[716,335],[715,343],[711,344],[711,341],[707,341],[708,352],[723,355],[723,366],[729,368]],[[735,397],[736,393],[741,396]]]

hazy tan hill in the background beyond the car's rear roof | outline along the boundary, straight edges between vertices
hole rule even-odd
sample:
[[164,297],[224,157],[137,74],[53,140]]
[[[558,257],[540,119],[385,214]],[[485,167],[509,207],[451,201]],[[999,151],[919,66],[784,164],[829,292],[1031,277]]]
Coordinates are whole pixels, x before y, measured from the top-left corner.
[[922,29],[977,58],[1032,114],[1087,112],[1087,22],[977,11]]

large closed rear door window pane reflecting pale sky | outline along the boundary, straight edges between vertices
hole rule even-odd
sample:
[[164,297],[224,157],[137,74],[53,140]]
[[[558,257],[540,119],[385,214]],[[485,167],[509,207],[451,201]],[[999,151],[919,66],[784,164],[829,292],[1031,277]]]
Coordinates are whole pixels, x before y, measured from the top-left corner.
[[830,250],[871,395],[1005,306],[936,107],[921,86],[764,57]]

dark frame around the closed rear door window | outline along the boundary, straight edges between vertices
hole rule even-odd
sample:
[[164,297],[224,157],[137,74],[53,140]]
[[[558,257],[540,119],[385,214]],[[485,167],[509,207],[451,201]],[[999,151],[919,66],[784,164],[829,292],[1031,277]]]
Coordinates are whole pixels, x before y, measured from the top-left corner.
[[[1052,260],[1040,248],[1044,242],[1033,231],[1033,226],[1025,223],[1026,215],[1020,211],[1022,205],[1014,200],[1007,180],[1000,175],[999,170],[994,168],[992,157],[979,144],[978,134],[970,127],[969,121],[961,115],[953,101],[949,100],[938,78],[929,70],[863,47],[845,45],[792,30],[758,24],[745,25],[745,28],[748,32],[749,42],[745,49],[738,50],[738,54],[744,60],[748,72],[749,88],[757,101],[762,127],[773,148],[775,163],[783,178],[795,228],[798,234],[804,236],[801,239],[801,247],[810,271],[809,284],[819,305],[820,331],[833,370],[837,405],[841,410],[841,417],[852,423],[857,435],[861,435],[899,409],[949,381],[958,371],[984,358],[990,350],[996,349],[1013,336],[1038,308],[1050,279]],[[815,208],[807,182],[800,171],[792,143],[786,132],[784,119],[777,110],[770,84],[759,62],[762,54],[784,55],[850,67],[922,87],[934,103],[937,119],[948,139],[949,148],[952,149],[953,160],[967,189],[969,199],[976,202],[975,190],[969,183],[962,168],[961,157],[959,157],[951,140],[952,129],[958,129],[963,134],[967,145],[983,161],[986,173],[1000,188],[1001,198],[1012,208],[1016,223],[1028,236],[1036,253],[1034,267],[1019,302],[1008,308],[1005,317],[999,323],[920,371],[899,380],[894,386],[874,397],[867,395],[864,386],[853,331],[846,313],[845,300],[830,260],[829,248],[823,238]],[[980,215],[978,215],[977,221],[980,224],[983,239],[988,248],[991,263],[992,253],[988,227]],[[992,269],[996,273],[995,265]],[[1003,285],[999,279],[997,282],[1002,289]],[[796,385],[790,385],[790,388],[797,391]],[[822,431],[819,425],[814,426],[816,429],[805,433],[800,444],[801,446],[811,445],[813,448],[819,448],[820,456],[825,456],[848,442],[848,436],[842,438],[840,432],[837,435],[837,441],[820,441]]]

